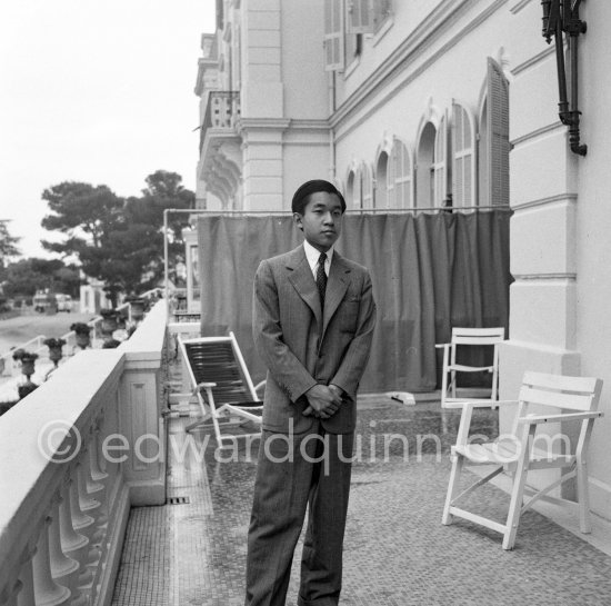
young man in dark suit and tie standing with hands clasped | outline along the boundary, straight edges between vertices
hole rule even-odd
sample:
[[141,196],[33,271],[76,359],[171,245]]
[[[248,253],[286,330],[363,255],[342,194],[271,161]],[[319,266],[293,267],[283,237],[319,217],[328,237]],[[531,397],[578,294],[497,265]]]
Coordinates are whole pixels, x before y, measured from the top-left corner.
[[339,602],[355,400],[375,324],[368,270],[333,250],[345,201],[323,180],[294,193],[306,241],[261,262],[253,335],[268,366],[248,538],[247,606],[283,606],[309,504],[299,606]]

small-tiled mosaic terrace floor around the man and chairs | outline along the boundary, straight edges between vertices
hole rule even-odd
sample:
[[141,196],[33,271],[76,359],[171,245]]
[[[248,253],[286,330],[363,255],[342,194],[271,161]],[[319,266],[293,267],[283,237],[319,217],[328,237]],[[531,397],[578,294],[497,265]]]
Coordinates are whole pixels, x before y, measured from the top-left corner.
[[[458,420],[454,411],[442,416],[439,403],[360,398],[361,460],[353,465],[340,604],[611,604],[611,542],[599,549],[532,510],[522,517],[512,552],[485,528],[462,520],[441,525]],[[256,448],[242,447],[239,460],[217,460],[224,455],[216,456],[210,438],[203,460],[189,450],[181,463],[172,440],[183,444],[187,423],[178,416],[170,421],[168,500],[187,497],[188,503],[131,510],[113,606],[243,604]],[[494,413],[479,410],[473,423],[479,434],[498,433]],[[405,436],[409,453],[394,439],[384,460],[384,434]],[[424,440],[419,457],[418,436],[428,434],[439,443]],[[208,435],[194,434],[200,446]],[[228,453],[227,458],[234,455]],[[482,507],[502,520],[507,495],[488,485],[480,496]],[[289,606],[297,599],[300,549]]]

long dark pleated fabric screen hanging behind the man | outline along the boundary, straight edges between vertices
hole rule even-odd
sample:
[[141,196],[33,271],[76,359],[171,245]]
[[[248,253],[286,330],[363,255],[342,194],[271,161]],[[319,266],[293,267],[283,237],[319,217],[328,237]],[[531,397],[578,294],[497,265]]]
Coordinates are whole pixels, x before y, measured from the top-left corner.
[[[508,327],[509,218],[505,210],[344,217],[337,249],[369,268],[378,305],[361,391],[431,391],[434,344],[448,341],[452,326]],[[236,332],[257,383],[266,369],[252,341],[254,272],[261,259],[301,244],[301,232],[289,215],[206,216],[198,230],[202,335]]]

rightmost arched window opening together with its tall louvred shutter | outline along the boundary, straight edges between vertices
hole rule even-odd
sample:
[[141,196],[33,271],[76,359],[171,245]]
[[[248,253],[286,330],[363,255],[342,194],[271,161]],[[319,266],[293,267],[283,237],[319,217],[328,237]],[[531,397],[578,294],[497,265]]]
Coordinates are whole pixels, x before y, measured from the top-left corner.
[[479,139],[479,203],[509,206],[509,82],[490,57]]

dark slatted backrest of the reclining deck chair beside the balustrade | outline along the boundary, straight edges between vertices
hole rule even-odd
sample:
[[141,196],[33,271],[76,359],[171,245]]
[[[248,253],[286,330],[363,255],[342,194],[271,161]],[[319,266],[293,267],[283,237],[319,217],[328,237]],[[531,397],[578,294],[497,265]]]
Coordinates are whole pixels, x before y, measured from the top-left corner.
[[214,404],[239,404],[259,398],[233,332],[228,337],[181,339],[189,375],[193,386],[216,383]]

